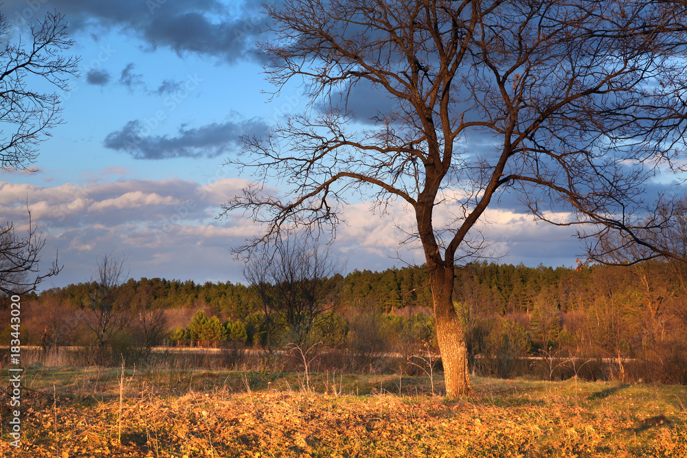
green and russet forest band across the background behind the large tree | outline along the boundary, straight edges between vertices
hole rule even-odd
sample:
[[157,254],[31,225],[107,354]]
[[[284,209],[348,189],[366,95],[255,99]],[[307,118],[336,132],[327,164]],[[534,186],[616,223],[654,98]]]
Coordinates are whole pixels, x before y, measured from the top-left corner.
[[[565,366],[593,380],[684,384],[682,269],[659,261],[462,266],[456,271],[454,306],[471,371],[510,378],[551,376],[557,369],[563,378],[573,372],[561,369]],[[273,354],[291,344],[313,347],[318,367],[412,372],[417,369],[412,358],[425,354],[429,364],[436,355],[424,266],[353,271],[306,286],[267,288],[282,293],[266,297],[256,284],[129,279],[108,293],[109,305],[103,306],[94,299],[95,293],[102,295],[95,282],[72,284],[26,297],[22,332],[27,345],[40,346],[45,354],[60,347],[85,349],[74,352],[74,365],[117,366],[123,356],[142,364],[154,348],[180,346],[231,349],[228,362],[236,364],[237,352]],[[10,332],[7,323],[3,329]],[[538,368],[532,368],[533,360]]]

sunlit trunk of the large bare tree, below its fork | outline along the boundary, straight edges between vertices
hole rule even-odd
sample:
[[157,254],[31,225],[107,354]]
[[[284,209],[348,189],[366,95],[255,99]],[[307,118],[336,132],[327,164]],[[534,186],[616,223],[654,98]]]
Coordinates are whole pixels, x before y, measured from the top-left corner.
[[453,308],[453,268],[435,266],[429,271],[436,336],[444,366],[447,396],[462,396],[470,387],[463,328]]

